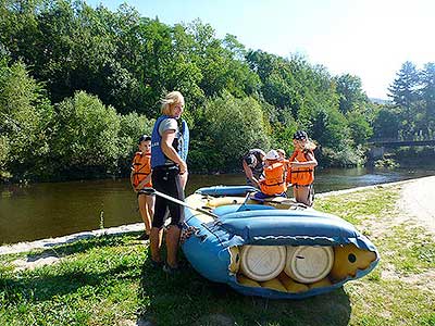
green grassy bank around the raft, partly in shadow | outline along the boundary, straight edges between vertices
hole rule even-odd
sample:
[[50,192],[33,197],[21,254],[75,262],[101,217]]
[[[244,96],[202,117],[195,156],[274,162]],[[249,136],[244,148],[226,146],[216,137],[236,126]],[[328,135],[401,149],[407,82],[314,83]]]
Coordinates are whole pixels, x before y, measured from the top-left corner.
[[[153,271],[135,235],[0,256],[0,325],[435,325],[435,241],[400,222],[398,186],[332,196],[315,208],[366,234],[381,252],[369,276],[327,294],[272,301],[211,284],[190,267]],[[35,269],[13,261],[63,258]]]

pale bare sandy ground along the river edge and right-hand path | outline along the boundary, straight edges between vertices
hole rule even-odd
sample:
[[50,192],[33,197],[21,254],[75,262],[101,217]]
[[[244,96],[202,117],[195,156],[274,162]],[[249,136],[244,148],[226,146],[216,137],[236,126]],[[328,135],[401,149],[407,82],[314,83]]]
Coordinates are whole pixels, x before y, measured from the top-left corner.
[[[424,177],[413,180],[406,180],[395,184],[382,185],[382,187],[388,187],[390,185],[400,185],[401,198],[399,200],[399,208],[402,212],[397,217],[397,224],[406,221],[412,221],[413,223],[423,226],[435,237],[435,176]],[[328,193],[321,193],[318,197],[326,197],[328,195],[337,193],[349,193],[361,189],[375,188],[380,186],[369,186],[362,188],[353,188],[348,190],[334,191]],[[80,239],[87,239],[91,237],[101,236],[103,234],[114,235],[132,231],[140,231],[142,224],[130,224],[123,225],[120,227],[112,227],[100,230],[85,231],[74,234],[70,236],[44,239],[33,242],[20,242],[11,246],[0,247],[0,254],[20,253],[27,252],[34,249],[50,249],[54,246],[71,243]],[[52,254],[44,253],[42,255],[28,256],[27,260],[16,260],[14,264],[17,269],[35,268],[37,266],[53,264],[60,260],[53,252]]]

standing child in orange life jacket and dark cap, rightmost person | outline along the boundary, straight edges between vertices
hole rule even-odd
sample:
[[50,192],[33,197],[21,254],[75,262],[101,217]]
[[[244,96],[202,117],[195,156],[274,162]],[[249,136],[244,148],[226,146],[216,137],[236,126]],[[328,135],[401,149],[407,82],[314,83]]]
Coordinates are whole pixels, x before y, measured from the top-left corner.
[[312,205],[312,184],[314,181],[314,167],[318,161],[314,158],[315,145],[308,139],[306,131],[296,131],[293,136],[295,151],[289,161],[289,173],[286,181],[293,185],[293,193],[297,202]]

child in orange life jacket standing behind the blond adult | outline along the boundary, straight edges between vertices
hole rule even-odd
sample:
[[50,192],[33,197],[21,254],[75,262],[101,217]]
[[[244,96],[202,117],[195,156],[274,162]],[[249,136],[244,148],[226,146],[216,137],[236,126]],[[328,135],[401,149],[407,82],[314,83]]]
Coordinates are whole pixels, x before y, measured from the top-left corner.
[[151,137],[142,135],[138,141],[139,151],[136,152],[130,173],[133,190],[137,193],[140,216],[145,223],[145,231],[139,240],[148,240],[151,231],[151,220],[154,213],[154,197],[138,193],[145,187],[152,187],[151,184]]

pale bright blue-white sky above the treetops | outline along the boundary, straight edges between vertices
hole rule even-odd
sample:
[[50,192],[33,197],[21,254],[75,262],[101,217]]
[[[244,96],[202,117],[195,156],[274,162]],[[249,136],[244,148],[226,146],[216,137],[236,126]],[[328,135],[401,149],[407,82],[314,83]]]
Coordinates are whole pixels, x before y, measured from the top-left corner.
[[200,18],[216,37],[233,34],[248,49],[301,53],[333,74],[361,77],[369,97],[387,98],[401,64],[435,62],[433,0],[87,0],[121,3],[165,24]]

